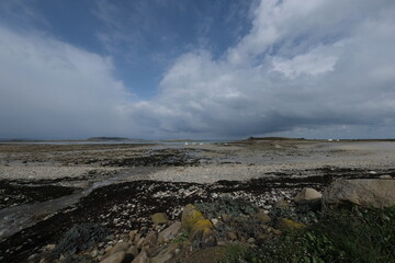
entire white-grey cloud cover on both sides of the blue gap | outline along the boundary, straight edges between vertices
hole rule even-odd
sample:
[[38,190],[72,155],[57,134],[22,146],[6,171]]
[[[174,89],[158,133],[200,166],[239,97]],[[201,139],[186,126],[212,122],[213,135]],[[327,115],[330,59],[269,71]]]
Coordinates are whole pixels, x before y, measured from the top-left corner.
[[262,0],[236,45],[179,56],[150,101],[111,58],[0,26],[0,137],[394,137],[394,24],[393,0]]

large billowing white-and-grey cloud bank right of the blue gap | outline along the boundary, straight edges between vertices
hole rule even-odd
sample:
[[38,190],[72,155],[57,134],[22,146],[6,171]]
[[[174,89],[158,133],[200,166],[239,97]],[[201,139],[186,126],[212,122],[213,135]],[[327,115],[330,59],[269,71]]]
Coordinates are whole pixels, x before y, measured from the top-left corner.
[[351,137],[366,135],[361,129],[393,136],[394,14],[394,2],[384,0],[261,1],[250,32],[221,58],[183,54],[160,94],[125,112],[172,137],[328,135],[326,127],[341,134],[343,125]]

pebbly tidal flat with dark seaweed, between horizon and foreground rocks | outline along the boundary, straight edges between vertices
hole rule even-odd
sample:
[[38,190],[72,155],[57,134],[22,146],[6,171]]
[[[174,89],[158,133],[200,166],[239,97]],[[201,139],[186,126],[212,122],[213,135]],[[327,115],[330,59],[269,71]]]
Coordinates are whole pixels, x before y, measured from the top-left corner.
[[115,239],[188,204],[230,196],[270,209],[303,187],[382,175],[395,175],[394,141],[0,144],[0,261],[40,262],[76,225]]

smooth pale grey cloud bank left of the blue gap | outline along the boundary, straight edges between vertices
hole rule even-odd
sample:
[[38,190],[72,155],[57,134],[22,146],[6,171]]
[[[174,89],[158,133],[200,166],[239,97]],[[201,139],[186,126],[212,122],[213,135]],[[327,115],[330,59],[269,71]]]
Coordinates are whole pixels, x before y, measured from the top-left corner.
[[133,98],[113,70],[110,57],[0,26],[0,137],[125,135]]

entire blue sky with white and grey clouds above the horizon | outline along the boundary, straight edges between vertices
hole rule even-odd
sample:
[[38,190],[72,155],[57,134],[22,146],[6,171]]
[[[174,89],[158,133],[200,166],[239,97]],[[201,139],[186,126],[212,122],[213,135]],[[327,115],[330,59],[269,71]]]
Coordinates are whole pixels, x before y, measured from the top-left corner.
[[0,0],[0,138],[395,138],[394,0]]

